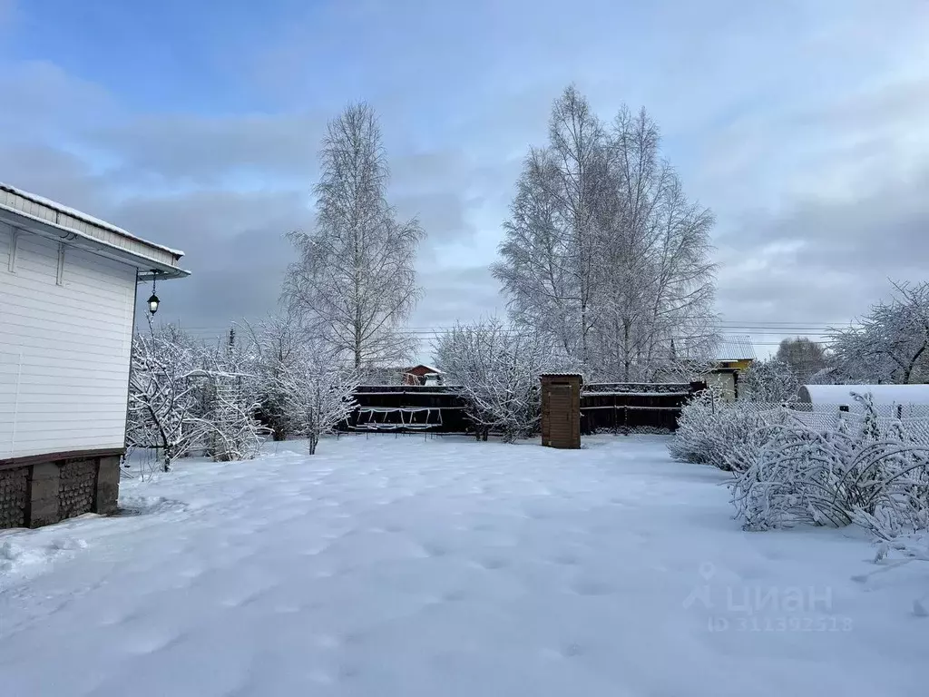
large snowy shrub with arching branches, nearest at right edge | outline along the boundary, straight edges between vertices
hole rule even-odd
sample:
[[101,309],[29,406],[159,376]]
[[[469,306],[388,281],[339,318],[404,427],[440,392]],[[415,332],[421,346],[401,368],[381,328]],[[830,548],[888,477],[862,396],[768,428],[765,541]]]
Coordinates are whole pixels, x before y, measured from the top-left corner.
[[926,530],[929,448],[899,421],[882,421],[870,396],[856,399],[860,423],[785,423],[761,432],[748,467],[730,484],[747,529],[857,522],[886,541]]

